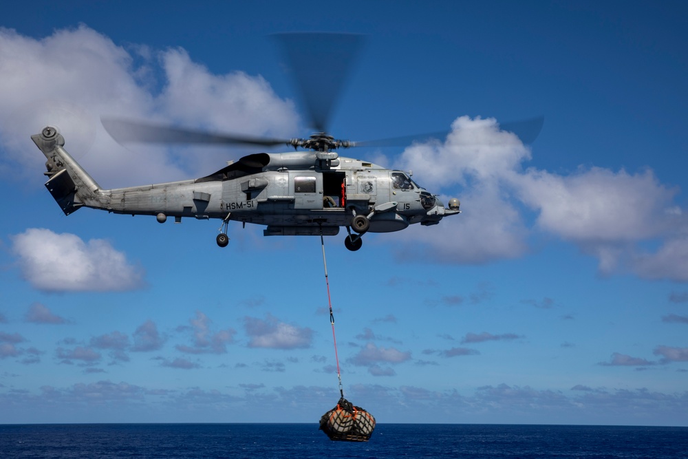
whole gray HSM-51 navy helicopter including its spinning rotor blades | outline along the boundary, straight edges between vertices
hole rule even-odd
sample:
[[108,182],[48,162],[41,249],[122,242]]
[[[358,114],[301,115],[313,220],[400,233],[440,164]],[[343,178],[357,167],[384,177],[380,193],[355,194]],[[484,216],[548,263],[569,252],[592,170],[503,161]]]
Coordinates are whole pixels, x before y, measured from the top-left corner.
[[[226,167],[193,180],[119,189],[101,189],[64,149],[65,139],[45,127],[32,140],[47,158],[45,186],[65,215],[81,207],[127,215],[155,215],[199,220],[218,219],[217,245],[228,245],[231,221],[266,225],[266,236],[337,235],[346,228],[349,250],[358,250],[361,235],[400,231],[411,224],[438,224],[458,215],[460,202],[444,206],[405,171],[339,156],[339,149],[398,144],[418,138],[372,142],[337,140],[325,129],[335,96],[341,91],[361,36],[349,34],[281,34],[297,86],[316,132],[308,138],[272,139],[211,134],[118,118],[101,118],[118,142],[169,144],[288,145],[289,153],[252,153]],[[318,63],[319,65],[312,65]],[[321,64],[325,63],[325,64]],[[396,140],[396,142],[395,142]],[[303,149],[299,151],[299,148]]]

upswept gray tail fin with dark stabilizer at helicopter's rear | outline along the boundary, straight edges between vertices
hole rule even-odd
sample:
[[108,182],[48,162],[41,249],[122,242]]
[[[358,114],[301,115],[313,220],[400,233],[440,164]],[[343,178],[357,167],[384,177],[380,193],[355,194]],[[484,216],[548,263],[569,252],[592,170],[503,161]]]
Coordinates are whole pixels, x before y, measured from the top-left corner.
[[47,158],[45,175],[49,179],[45,187],[65,215],[82,206],[103,208],[103,198],[107,197],[100,193],[96,181],[63,148],[65,138],[54,127],[43,128],[41,134],[31,136],[31,139]]

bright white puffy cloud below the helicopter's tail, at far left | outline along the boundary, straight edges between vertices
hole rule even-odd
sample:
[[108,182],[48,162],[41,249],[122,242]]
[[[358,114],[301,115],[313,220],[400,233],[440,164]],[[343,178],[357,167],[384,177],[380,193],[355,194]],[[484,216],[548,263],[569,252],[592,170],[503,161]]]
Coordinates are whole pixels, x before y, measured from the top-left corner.
[[23,277],[50,292],[131,290],[142,286],[142,271],[103,239],[29,228],[12,236]]

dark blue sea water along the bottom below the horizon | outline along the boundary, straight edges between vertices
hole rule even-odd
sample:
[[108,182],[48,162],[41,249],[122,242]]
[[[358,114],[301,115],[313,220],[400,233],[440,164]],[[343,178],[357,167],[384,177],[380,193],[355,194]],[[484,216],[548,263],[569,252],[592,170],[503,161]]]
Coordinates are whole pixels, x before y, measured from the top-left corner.
[[380,424],[333,442],[316,424],[0,425],[0,458],[688,458],[688,427]]

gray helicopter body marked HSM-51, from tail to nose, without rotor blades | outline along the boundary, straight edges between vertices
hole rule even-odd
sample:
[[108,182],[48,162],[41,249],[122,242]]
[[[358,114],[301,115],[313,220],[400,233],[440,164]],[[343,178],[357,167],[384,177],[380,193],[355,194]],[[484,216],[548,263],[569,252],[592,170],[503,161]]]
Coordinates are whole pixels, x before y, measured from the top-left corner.
[[[133,128],[127,120],[109,120],[107,124],[111,131]],[[144,127],[156,136],[198,134]],[[265,236],[334,236],[344,226],[345,246],[355,251],[367,232],[400,231],[416,223],[434,225],[461,212],[458,199],[449,200],[445,207],[437,195],[413,182],[405,171],[339,156],[335,149],[355,143],[323,132],[286,142],[310,151],[252,153],[202,178],[109,190],[102,189],[69,155],[65,138],[54,127],[45,127],[32,140],[47,158],[45,186],[65,215],[89,207],[155,215],[160,223],[168,217],[174,217],[175,223],[182,217],[219,219],[222,225],[216,242],[220,247],[228,245],[230,221],[266,225]]]

